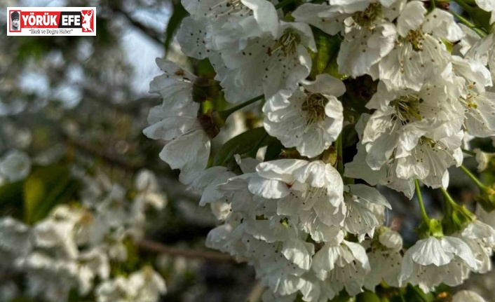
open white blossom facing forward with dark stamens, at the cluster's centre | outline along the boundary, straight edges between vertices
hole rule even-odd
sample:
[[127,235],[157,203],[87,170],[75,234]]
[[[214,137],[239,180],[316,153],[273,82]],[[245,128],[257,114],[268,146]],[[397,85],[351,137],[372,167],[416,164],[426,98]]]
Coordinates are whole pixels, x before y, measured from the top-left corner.
[[264,127],[286,147],[295,146],[310,158],[327,149],[337,139],[344,116],[337,97],[346,88],[337,78],[319,75],[304,90],[280,90],[264,105]]

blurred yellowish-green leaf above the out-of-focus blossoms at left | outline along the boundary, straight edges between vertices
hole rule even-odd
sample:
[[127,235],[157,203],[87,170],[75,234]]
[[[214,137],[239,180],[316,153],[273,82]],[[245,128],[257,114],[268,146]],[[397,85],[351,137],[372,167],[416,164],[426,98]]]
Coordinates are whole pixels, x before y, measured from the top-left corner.
[[63,165],[38,167],[24,183],[24,219],[33,224],[59,203],[67,203],[79,186]]

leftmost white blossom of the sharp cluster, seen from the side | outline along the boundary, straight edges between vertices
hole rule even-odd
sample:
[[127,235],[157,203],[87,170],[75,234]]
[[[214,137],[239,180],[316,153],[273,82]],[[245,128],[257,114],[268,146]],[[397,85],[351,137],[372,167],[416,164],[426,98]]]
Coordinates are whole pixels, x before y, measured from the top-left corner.
[[165,71],[150,83],[150,92],[158,92],[163,104],[151,109],[150,126],[143,130],[151,139],[167,144],[160,158],[172,169],[180,169],[180,181],[190,184],[201,173],[210,156],[210,139],[197,119],[199,104],[193,102],[196,76],[172,62],[156,60]]

